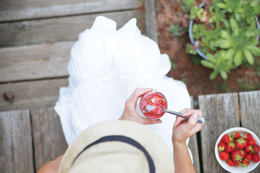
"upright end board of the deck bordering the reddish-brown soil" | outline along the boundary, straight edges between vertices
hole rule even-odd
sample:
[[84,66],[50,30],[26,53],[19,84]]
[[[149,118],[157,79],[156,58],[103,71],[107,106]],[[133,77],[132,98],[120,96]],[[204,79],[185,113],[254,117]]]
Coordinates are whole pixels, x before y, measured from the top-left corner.
[[149,38],[158,43],[157,21],[154,0],[145,0],[145,24]]

